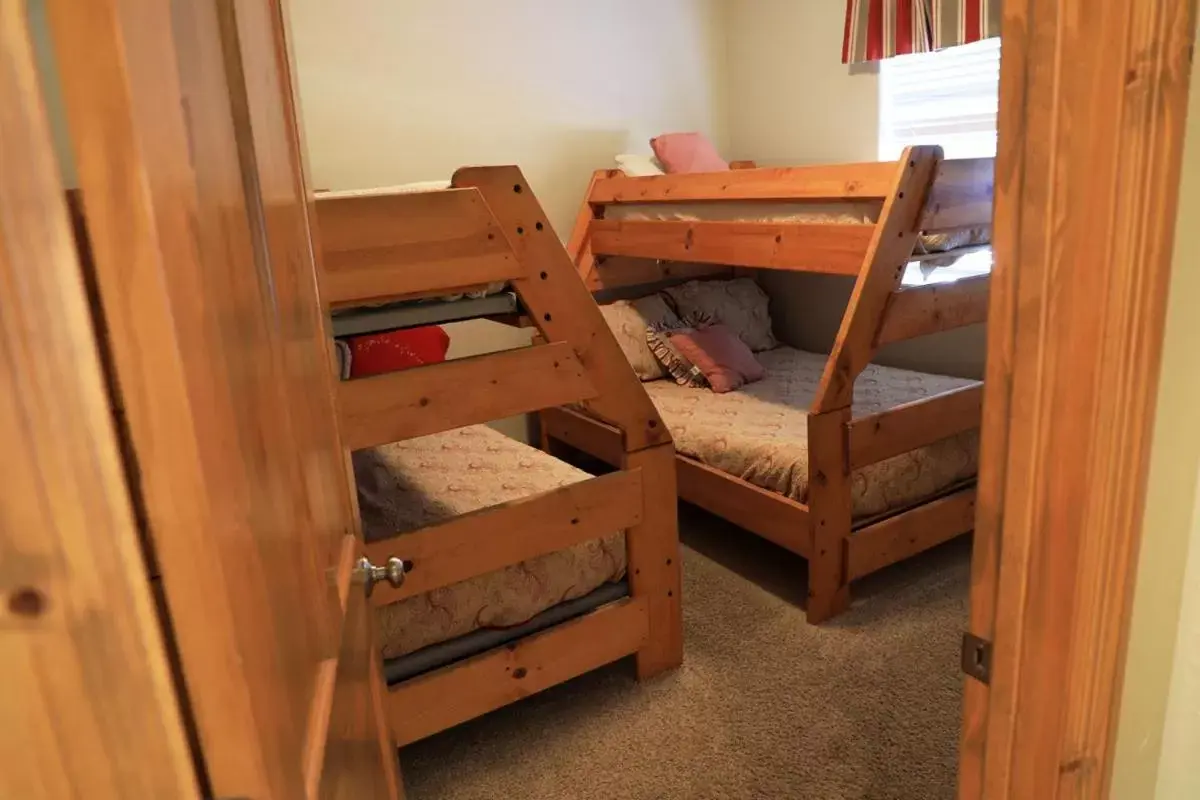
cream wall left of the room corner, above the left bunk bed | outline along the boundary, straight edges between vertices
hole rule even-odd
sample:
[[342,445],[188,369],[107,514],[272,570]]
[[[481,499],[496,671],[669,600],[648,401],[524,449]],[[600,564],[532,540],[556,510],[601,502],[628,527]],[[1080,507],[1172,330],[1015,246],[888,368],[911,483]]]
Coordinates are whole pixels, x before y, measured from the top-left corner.
[[[724,0],[290,0],[312,185],[515,163],[565,239],[618,152],[649,152],[666,131],[727,145],[724,14]],[[529,337],[488,321],[448,331],[455,357]]]

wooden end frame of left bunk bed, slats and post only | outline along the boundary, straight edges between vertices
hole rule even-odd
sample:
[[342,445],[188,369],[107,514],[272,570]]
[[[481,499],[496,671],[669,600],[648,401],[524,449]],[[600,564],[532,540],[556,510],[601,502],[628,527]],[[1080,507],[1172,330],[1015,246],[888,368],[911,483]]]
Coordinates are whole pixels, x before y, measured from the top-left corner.
[[[674,449],[516,167],[460,169],[454,188],[320,198],[326,308],[444,295],[506,281],[541,336],[533,347],[338,384],[343,445],[358,450],[581,403],[613,434],[618,471],[366,546],[402,559],[376,606],[625,531],[629,596],[391,686],[397,745],[422,739],[623,656],[638,678],[680,663]],[[494,531],[514,531],[497,536]]]

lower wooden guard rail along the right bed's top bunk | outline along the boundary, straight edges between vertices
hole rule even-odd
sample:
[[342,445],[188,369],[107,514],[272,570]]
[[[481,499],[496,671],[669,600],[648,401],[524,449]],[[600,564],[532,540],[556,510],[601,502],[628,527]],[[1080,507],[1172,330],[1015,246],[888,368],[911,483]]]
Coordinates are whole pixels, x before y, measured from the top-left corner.
[[671,261],[858,275],[875,225],[596,219],[592,252]]

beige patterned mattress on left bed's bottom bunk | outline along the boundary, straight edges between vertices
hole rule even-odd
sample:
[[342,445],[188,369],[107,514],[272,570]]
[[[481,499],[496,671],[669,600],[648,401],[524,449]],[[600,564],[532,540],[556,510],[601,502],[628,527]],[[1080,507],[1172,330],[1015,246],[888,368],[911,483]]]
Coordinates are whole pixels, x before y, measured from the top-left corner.
[[[481,425],[355,452],[354,475],[368,542],[590,477]],[[396,555],[403,554],[398,537]],[[614,533],[407,597],[378,609],[383,656],[518,625],[624,575],[624,534]]]

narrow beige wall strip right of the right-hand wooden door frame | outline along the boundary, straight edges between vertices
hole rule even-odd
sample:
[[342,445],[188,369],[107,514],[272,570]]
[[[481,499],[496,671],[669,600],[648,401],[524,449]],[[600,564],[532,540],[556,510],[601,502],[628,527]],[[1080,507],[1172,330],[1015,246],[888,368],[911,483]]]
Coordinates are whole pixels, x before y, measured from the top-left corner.
[[1200,798],[1200,62],[1193,66],[1116,800]]

